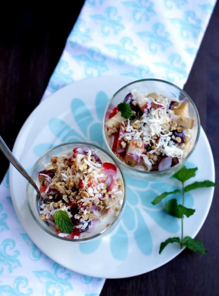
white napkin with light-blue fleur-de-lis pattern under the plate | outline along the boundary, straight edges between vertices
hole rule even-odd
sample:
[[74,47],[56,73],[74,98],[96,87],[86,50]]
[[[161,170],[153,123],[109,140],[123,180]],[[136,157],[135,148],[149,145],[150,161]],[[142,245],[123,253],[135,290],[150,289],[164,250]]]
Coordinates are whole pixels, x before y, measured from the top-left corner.
[[[183,87],[215,2],[87,0],[43,99],[104,74]],[[104,281],[61,267],[33,244],[14,212],[7,173],[0,186],[0,296],[98,296]]]

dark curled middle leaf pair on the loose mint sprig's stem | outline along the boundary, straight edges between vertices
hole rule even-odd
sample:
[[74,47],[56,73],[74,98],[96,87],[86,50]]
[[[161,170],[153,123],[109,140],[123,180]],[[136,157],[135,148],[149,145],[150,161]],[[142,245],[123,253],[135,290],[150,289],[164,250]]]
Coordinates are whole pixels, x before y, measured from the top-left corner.
[[194,209],[184,207],[183,205],[178,205],[175,198],[169,200],[166,203],[165,209],[169,215],[176,218],[183,218],[183,215],[186,215],[186,217],[190,217],[195,212]]

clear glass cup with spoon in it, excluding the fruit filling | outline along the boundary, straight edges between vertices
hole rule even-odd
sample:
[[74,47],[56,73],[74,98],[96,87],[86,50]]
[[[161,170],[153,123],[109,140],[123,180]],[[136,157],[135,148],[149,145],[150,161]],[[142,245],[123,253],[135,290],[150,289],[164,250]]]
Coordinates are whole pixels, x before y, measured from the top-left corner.
[[[70,142],[70,143],[60,144],[60,145],[48,150],[46,153],[44,153],[37,160],[37,162],[34,164],[32,170],[30,172],[30,176],[31,176],[31,178],[33,178],[33,180],[38,185],[40,185],[39,181],[38,181],[38,173],[39,173],[39,171],[41,171],[45,168],[45,166],[44,166],[45,164],[51,162],[51,157],[65,154],[67,152],[72,152],[72,150],[77,147],[81,147],[82,149],[91,149],[93,152],[95,152],[98,155],[98,157],[100,157],[100,159],[103,162],[109,162],[109,163],[112,163],[113,165],[116,166],[117,176],[121,179],[122,184],[123,184],[124,196],[123,196],[123,202],[121,204],[121,208],[120,208],[118,214],[116,215],[115,220],[107,228],[104,228],[99,233],[92,235],[90,237],[75,238],[75,239],[61,237],[56,233],[55,226],[41,220],[39,208],[38,208],[37,195],[36,195],[35,189],[33,189],[33,187],[29,183],[27,183],[27,186],[26,186],[26,198],[27,198],[27,205],[28,205],[31,215],[33,216],[34,220],[38,223],[38,225],[44,231],[46,231],[48,234],[52,235],[53,237],[56,237],[57,239],[82,243],[82,242],[88,242],[88,241],[90,242],[92,240],[99,239],[100,236],[102,237],[102,236],[108,234],[117,226],[117,224],[119,223],[119,221],[121,219],[121,215],[124,210],[124,206],[125,206],[125,202],[126,202],[126,182],[125,182],[124,174],[123,174],[122,170],[120,169],[118,163],[111,157],[111,155],[108,152],[106,152],[105,150],[103,150],[100,147],[97,147],[97,146],[95,146],[93,144],[89,144],[89,143]],[[98,221],[96,221],[96,223],[98,223]]]

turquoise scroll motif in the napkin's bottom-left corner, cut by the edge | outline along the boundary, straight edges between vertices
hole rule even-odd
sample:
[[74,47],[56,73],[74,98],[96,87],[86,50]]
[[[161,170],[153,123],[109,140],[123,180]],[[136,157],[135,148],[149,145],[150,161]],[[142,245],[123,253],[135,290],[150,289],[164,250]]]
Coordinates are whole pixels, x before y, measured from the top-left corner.
[[[1,283],[1,281],[0,281]],[[33,289],[28,288],[29,280],[25,276],[17,276],[13,287],[0,284],[0,296],[30,296]]]

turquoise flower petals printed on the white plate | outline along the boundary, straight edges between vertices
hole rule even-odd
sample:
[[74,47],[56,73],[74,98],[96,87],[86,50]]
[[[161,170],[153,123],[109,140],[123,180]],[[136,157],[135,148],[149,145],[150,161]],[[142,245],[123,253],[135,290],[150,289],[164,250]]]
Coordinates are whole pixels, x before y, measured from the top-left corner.
[[[95,97],[95,108],[92,112],[87,107],[85,102],[80,98],[72,99],[69,108],[72,111],[72,116],[75,125],[80,130],[80,133],[75,131],[71,126],[65,123],[60,118],[53,118],[49,121],[48,127],[53,135],[62,142],[71,141],[87,141],[93,144],[103,146],[103,138],[101,132],[101,119],[103,111],[108,102],[108,96],[99,91]],[[38,151],[42,151],[47,147],[52,146],[51,143],[42,143],[34,147],[34,152],[38,155]],[[150,183],[133,180],[126,177],[127,183],[127,202],[124,213],[121,218],[121,223],[118,228],[111,234],[110,249],[113,257],[116,260],[125,260],[129,251],[129,241],[134,240],[136,247],[142,254],[148,256],[153,250],[153,241],[150,230],[147,226],[147,217],[152,218],[155,223],[162,229],[171,234],[179,231],[178,219],[172,217],[164,210],[164,203],[171,197],[166,197],[165,201],[159,205],[153,206],[151,201],[154,197],[163,191],[173,191],[178,187],[170,182]],[[170,184],[169,184],[170,183]],[[181,202],[181,195],[175,194],[174,197]],[[190,194],[186,195],[186,206],[192,207],[193,198]],[[83,254],[90,254],[98,249],[101,244],[101,239],[87,242],[79,245],[79,249]],[[120,248],[118,248],[118,244]],[[41,272],[39,272],[40,274]],[[84,282],[92,281],[91,277],[82,278]]]

